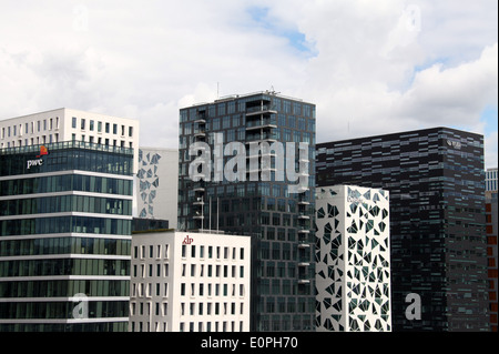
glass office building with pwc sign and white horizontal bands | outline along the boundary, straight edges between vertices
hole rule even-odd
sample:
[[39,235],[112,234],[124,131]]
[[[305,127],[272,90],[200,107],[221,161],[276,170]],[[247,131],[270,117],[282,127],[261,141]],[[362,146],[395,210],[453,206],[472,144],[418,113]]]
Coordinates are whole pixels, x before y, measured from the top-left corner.
[[128,330],[132,169],[126,148],[0,150],[0,332]]

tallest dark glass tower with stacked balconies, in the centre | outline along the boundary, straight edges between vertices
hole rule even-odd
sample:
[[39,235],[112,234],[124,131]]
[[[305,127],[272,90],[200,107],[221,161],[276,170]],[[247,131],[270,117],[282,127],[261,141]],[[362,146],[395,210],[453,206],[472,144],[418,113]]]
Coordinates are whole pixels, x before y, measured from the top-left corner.
[[[245,175],[228,181],[224,174],[216,180],[222,171],[213,163],[211,170],[195,171],[196,181],[191,164],[205,152],[212,161],[221,156],[221,140],[225,145],[242,143]],[[206,145],[190,154],[196,142]],[[286,142],[295,143],[288,144],[295,152],[292,161],[283,160],[278,149],[249,152],[255,144],[276,148],[287,146]],[[299,154],[299,142],[308,144],[305,155]],[[223,166],[231,164],[233,153],[223,156]],[[253,236],[252,331],[314,330],[314,104],[261,92],[180,111],[179,229]],[[294,182],[288,173],[279,178],[283,166],[306,178],[299,193],[289,188]]]

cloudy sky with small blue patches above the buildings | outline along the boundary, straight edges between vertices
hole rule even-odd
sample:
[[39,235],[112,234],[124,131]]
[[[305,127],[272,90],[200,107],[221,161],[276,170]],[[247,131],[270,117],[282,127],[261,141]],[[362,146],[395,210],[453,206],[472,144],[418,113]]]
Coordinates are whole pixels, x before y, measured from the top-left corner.
[[275,90],[317,142],[448,127],[498,165],[497,0],[0,1],[0,119],[133,118],[176,149],[181,108]]

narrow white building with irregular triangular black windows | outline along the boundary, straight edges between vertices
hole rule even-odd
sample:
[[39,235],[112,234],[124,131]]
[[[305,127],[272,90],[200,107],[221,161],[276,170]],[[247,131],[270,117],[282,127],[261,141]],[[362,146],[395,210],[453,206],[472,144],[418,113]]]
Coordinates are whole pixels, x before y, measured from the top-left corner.
[[317,331],[391,331],[389,193],[316,189]]

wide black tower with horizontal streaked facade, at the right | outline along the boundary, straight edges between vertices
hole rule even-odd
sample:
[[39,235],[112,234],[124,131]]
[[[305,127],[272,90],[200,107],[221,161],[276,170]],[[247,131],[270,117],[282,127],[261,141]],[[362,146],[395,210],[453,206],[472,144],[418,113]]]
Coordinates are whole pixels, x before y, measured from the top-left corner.
[[[317,184],[390,192],[394,331],[487,331],[483,138],[435,128],[317,144]],[[408,320],[408,294],[421,320]]]

